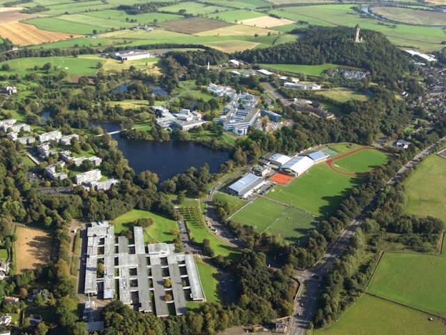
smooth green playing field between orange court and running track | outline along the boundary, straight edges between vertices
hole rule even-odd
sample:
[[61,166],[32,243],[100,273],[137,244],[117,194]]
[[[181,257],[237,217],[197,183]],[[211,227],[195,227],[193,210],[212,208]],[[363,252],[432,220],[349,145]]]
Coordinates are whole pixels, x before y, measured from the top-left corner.
[[348,197],[352,188],[362,181],[362,177],[346,176],[320,163],[291,181],[291,184],[275,186],[266,196],[327,218]]

